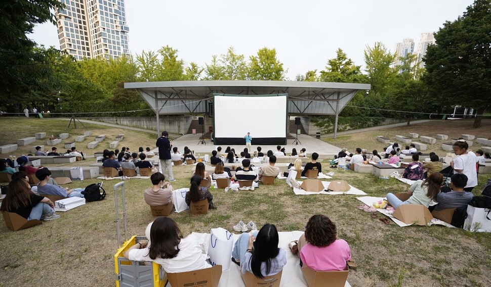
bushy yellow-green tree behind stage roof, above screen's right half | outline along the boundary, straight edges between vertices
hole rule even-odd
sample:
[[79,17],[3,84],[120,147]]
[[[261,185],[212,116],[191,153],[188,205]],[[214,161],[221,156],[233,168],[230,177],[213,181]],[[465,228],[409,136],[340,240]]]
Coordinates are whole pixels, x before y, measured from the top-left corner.
[[276,49],[264,47],[256,56],[249,57],[249,78],[251,80],[284,80],[286,71],[283,64],[276,59]]

